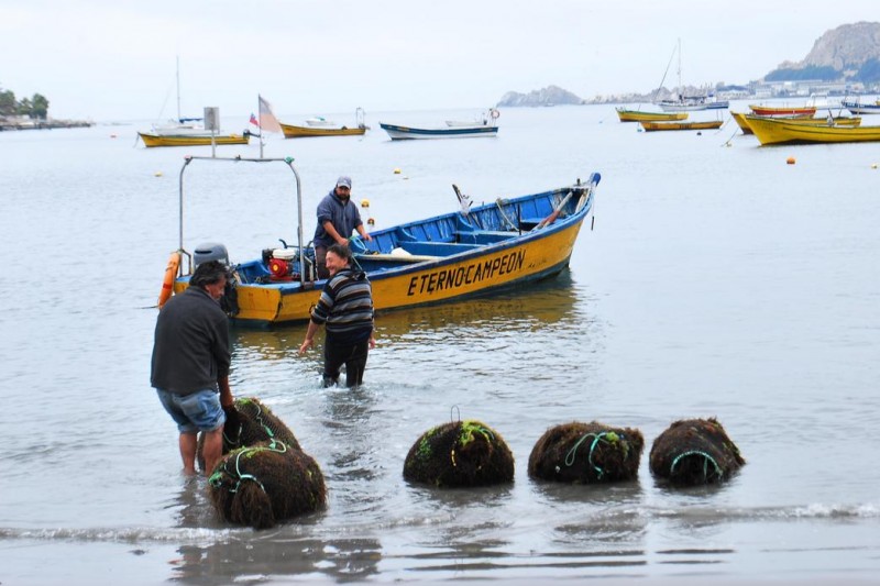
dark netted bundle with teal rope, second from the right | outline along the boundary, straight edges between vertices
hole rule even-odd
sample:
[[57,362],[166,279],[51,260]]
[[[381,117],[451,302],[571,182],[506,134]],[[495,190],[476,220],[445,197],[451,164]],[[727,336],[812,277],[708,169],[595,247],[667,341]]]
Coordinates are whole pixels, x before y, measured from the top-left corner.
[[645,446],[641,432],[592,421],[550,428],[529,455],[529,476],[559,483],[634,480]]

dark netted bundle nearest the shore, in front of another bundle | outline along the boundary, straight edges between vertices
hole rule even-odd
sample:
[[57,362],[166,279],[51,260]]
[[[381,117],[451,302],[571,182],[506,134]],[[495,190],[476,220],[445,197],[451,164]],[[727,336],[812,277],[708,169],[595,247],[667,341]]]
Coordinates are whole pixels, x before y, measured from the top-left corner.
[[218,515],[254,529],[320,510],[327,501],[323,475],[315,460],[277,440],[233,450],[208,483]]

